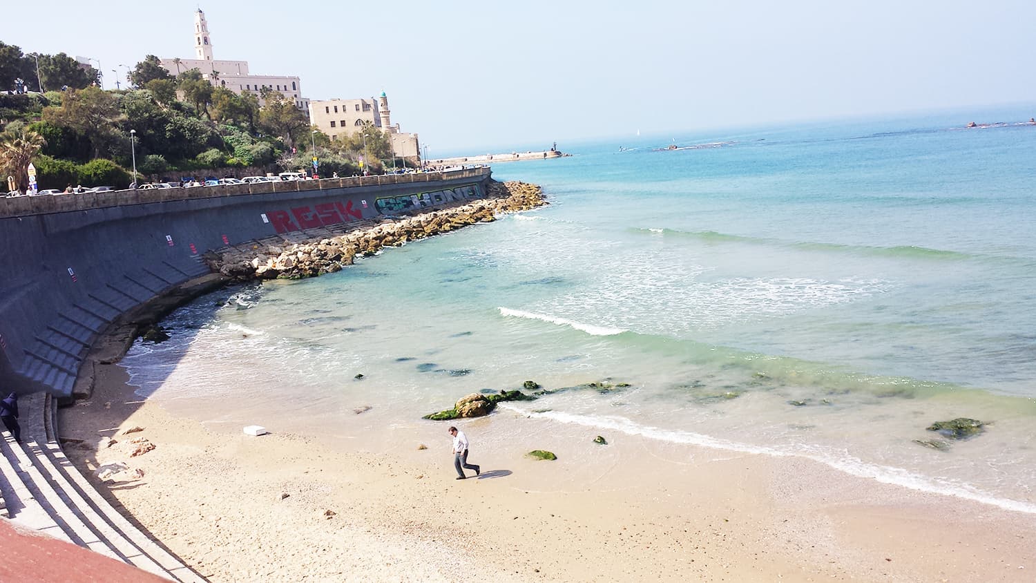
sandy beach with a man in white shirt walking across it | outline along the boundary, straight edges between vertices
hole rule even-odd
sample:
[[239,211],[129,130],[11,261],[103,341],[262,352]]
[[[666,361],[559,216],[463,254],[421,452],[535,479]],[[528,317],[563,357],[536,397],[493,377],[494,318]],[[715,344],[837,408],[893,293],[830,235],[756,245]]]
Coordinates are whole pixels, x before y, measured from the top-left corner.
[[[96,375],[92,398],[60,411],[61,436],[82,440],[66,453],[212,581],[1031,581],[1036,569],[1031,516],[808,461],[624,439],[597,473],[573,473],[581,445],[535,425],[480,450],[497,411],[461,426],[483,473],[456,480],[449,422],[343,450],[214,431],[142,401],[117,365]],[[131,457],[141,438],[154,448]],[[558,460],[521,455],[533,448]]]

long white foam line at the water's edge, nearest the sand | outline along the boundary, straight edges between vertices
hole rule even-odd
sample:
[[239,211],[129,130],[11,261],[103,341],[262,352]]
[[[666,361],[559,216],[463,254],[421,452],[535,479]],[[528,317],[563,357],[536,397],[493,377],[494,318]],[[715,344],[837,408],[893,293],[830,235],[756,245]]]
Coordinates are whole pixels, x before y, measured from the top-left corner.
[[950,483],[939,478],[923,476],[902,468],[871,464],[844,453],[836,456],[830,450],[816,446],[799,446],[792,450],[785,450],[776,447],[766,447],[729,441],[689,431],[666,430],[657,427],[642,426],[625,417],[618,416],[577,415],[563,411],[533,412],[530,410],[523,409],[514,403],[500,403],[498,406],[503,409],[521,413],[522,415],[528,417],[547,418],[563,424],[617,431],[627,435],[636,435],[669,443],[698,445],[713,449],[739,451],[743,454],[757,454],[778,458],[804,458],[819,462],[843,473],[857,477],[873,479],[882,484],[891,484],[902,488],[909,488],[911,490],[941,494],[944,496],[954,496],[966,500],[989,504],[1006,511],[1036,514],[1036,504],[1031,502],[999,498],[991,494],[977,490],[967,484]]

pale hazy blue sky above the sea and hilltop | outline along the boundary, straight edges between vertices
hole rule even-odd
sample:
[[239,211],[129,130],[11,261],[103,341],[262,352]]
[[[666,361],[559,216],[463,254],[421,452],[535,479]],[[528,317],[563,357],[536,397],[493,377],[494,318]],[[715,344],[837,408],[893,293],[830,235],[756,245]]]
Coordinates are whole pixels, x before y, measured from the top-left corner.
[[[38,4],[44,6],[45,4]],[[96,6],[104,6],[100,9]],[[56,0],[25,52],[192,58],[198,3]],[[218,59],[311,99],[388,94],[434,156],[490,146],[1034,104],[1036,0],[200,4]],[[564,147],[563,147],[564,149]]]

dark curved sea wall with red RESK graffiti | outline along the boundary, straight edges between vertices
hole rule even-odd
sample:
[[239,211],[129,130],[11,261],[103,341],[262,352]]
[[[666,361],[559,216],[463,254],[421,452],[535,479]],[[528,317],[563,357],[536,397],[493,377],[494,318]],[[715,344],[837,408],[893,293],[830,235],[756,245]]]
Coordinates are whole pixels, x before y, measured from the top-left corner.
[[208,272],[206,251],[482,198],[490,176],[478,168],[0,199],[0,390],[69,396],[97,334]]

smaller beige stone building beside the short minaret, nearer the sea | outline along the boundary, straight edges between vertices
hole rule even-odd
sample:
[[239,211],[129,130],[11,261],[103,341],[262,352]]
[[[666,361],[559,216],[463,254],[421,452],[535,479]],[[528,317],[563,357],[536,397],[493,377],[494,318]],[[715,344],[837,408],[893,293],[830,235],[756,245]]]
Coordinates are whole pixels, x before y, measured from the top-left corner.
[[418,135],[404,134],[400,132],[398,123],[392,124],[388,97],[384,91],[378,98],[310,101],[310,123],[332,140],[338,140],[340,136],[351,136],[359,132],[367,122],[388,133],[393,152],[397,156],[420,157]]

